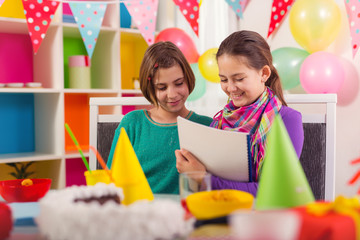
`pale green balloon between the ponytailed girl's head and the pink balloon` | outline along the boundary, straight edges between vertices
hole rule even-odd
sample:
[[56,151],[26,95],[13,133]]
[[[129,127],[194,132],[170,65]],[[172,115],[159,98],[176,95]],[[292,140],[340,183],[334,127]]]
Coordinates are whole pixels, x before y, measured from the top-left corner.
[[301,64],[310,55],[309,52],[292,47],[278,48],[272,51],[273,64],[277,69],[284,90],[300,84]]

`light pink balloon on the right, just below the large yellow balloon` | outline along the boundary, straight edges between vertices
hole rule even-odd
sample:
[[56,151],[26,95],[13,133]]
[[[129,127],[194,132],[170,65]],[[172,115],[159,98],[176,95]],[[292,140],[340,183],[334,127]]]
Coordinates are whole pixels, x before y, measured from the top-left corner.
[[300,68],[300,83],[307,93],[337,93],[344,79],[343,65],[328,52],[309,55]]

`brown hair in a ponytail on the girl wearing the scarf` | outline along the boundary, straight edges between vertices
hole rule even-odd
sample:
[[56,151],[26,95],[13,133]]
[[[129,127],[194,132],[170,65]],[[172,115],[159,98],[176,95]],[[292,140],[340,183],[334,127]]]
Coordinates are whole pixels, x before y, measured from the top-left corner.
[[221,42],[218,52],[216,53],[216,59],[223,54],[245,57],[249,67],[256,70],[261,70],[264,66],[268,65],[271,70],[271,75],[265,82],[265,86],[270,87],[282,104],[287,106],[279,74],[272,62],[270,47],[260,34],[247,30],[230,34]]

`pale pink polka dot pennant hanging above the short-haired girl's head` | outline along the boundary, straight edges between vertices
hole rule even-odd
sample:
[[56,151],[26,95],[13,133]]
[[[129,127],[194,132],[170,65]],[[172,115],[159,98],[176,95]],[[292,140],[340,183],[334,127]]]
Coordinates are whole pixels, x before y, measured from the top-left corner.
[[133,21],[149,45],[154,43],[158,5],[159,0],[125,2]]

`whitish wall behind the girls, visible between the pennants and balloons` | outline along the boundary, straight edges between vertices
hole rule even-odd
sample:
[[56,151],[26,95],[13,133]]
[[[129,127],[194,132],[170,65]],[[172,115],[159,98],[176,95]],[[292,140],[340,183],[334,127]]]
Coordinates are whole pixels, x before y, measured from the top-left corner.
[[[244,12],[243,19],[237,19],[235,13],[229,8],[224,0],[203,0],[200,7],[199,37],[197,37],[185,21],[185,18],[177,11],[172,1],[160,1],[165,4],[167,10],[175,11],[175,22],[167,22],[168,25],[159,25],[159,30],[175,24],[193,37],[199,54],[207,49],[218,47],[220,42],[230,33],[236,30],[253,30],[266,37],[271,16],[272,0],[250,0]],[[340,57],[346,63],[347,77],[342,89],[338,92],[337,104],[337,132],[336,132],[336,195],[352,196],[356,194],[360,181],[355,186],[348,186],[350,177],[360,170],[359,165],[350,165],[350,161],[360,157],[360,98],[359,90],[359,64],[360,53],[352,58],[351,38],[347,20],[347,14],[343,0],[335,0],[342,13],[341,30],[337,39],[326,49]],[[164,9],[164,8],[162,8]],[[169,11],[168,11],[169,13]],[[165,12],[162,12],[165,15]],[[302,49],[293,38],[289,19],[284,19],[273,37],[268,39],[272,50],[280,47],[296,47]],[[161,19],[161,18],[159,18]],[[159,20],[158,20],[159,21]],[[226,103],[226,96],[221,91],[219,84],[207,82],[205,95],[196,101],[189,102],[188,106],[199,113],[212,116]],[[290,90],[289,93],[305,93],[300,87]]]

